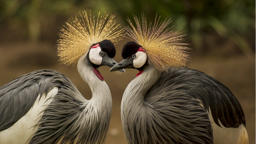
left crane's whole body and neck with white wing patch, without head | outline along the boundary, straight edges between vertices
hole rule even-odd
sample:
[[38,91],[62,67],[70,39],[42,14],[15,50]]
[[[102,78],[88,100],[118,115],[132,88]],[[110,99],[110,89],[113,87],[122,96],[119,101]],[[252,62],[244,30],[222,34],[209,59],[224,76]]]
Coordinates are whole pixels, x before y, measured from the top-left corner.
[[111,93],[106,82],[84,62],[85,56],[78,62],[78,71],[92,90],[91,100],[86,100],[68,77],[51,69],[28,73],[1,87],[1,125],[10,127],[1,129],[0,143],[52,144],[61,138],[104,142],[111,116]]

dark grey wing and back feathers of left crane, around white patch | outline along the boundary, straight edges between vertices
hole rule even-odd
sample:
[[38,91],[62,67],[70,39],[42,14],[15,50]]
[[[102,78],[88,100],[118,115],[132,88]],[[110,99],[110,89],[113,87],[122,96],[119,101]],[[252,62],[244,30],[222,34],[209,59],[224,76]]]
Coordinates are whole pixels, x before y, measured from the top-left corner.
[[[73,143],[78,138],[80,127],[76,122],[82,112],[82,102],[76,98],[83,96],[68,77],[52,69],[36,70],[0,88],[0,131],[8,129],[24,116],[39,93],[41,98],[55,86],[59,87],[58,93],[44,109],[38,130],[29,144]],[[79,137],[78,143],[82,141],[84,137]]]

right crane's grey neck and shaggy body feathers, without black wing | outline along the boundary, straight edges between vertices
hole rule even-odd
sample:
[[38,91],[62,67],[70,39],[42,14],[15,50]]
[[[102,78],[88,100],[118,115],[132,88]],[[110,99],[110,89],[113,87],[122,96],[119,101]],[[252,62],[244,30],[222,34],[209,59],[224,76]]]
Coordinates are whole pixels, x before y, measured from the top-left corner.
[[152,67],[148,65],[132,80],[122,98],[122,124],[128,143],[213,143],[208,113],[184,87],[188,84],[181,84],[181,75]]

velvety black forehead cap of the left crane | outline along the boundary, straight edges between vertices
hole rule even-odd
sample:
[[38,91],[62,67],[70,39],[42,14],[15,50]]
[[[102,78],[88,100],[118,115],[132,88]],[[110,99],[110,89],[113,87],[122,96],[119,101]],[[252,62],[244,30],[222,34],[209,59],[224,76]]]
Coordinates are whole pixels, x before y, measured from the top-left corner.
[[103,52],[106,52],[110,58],[114,58],[116,55],[115,45],[110,40],[104,40],[99,43]]

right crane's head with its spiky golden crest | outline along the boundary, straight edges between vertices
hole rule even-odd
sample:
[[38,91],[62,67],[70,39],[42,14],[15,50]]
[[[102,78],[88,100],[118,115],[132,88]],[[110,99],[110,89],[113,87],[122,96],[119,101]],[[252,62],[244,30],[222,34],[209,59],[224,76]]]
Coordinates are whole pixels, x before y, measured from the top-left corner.
[[[136,25],[128,19],[130,26],[124,27],[127,37],[133,41],[124,45],[122,53],[125,59],[133,62],[130,68],[134,67],[141,71],[147,60],[159,71],[187,66],[189,55],[186,50],[189,48],[186,45],[188,44],[181,43],[185,35],[182,32],[171,30],[172,27],[167,27],[171,19],[160,20],[160,17],[156,16],[155,21],[148,23],[143,13],[141,18],[134,16],[134,21]],[[140,48],[144,54],[139,51]],[[134,60],[128,57],[132,56],[131,54],[134,54]]]

